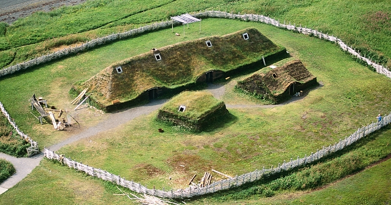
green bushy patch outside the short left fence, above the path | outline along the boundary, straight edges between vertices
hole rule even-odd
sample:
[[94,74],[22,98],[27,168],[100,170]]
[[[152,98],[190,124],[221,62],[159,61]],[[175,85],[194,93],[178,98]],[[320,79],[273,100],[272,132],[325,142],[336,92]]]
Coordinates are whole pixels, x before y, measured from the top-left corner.
[[8,120],[0,113],[0,152],[16,157],[25,157],[27,156],[26,148],[29,145],[13,130]]

